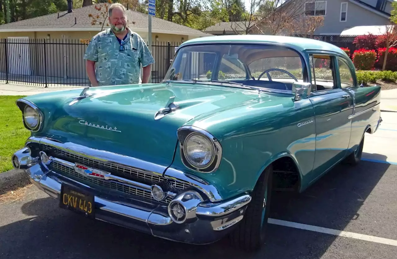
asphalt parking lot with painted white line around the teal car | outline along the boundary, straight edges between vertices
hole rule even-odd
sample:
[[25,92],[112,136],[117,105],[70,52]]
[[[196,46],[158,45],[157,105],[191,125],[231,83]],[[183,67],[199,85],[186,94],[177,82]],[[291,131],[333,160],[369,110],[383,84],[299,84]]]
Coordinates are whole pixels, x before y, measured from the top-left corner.
[[274,194],[258,253],[227,240],[192,246],[92,221],[30,186],[21,200],[0,204],[0,258],[396,258],[397,113],[382,118],[357,167],[339,165],[299,195]]

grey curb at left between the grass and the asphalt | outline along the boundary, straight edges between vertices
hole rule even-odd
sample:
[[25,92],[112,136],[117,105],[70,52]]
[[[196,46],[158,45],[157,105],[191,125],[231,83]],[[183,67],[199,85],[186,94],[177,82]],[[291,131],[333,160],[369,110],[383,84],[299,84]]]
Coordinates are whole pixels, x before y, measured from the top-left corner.
[[0,173],[0,195],[24,187],[30,183],[29,177],[23,170],[12,169]]

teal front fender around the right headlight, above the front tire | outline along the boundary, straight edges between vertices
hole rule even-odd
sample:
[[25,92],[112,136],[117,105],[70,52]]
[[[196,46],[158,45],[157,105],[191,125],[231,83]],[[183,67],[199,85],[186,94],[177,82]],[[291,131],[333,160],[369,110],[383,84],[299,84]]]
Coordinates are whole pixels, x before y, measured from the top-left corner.
[[[263,94],[256,100],[189,121],[213,134],[222,145],[222,161],[214,173],[187,169],[179,145],[172,167],[196,175],[218,188],[223,199],[251,191],[264,169],[281,156],[292,157],[301,177],[312,170],[315,148],[314,110],[310,100],[292,95]],[[303,121],[313,119],[304,127]]]

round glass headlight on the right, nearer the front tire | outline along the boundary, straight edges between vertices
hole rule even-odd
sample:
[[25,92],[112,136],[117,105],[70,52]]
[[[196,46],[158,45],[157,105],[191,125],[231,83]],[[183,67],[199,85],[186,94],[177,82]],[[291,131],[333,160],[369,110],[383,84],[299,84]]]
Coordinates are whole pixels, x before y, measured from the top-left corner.
[[193,133],[185,140],[183,152],[187,161],[197,168],[205,168],[214,159],[214,145],[204,135]]

